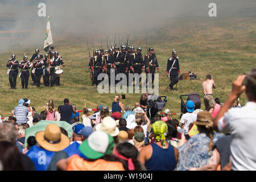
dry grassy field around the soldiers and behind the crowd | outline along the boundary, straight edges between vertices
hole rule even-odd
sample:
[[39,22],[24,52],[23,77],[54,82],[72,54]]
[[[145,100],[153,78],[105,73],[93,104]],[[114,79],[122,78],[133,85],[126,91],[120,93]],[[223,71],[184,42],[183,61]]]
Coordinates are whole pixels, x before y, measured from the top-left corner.
[[[137,35],[137,40],[132,39],[135,47],[139,46],[138,43],[143,43],[140,45],[143,55],[146,54],[144,43],[146,36],[148,47],[154,47],[160,65],[159,95],[168,97],[165,109],[170,109],[172,113],[180,113],[179,96],[191,92],[200,93],[202,109],[204,109],[201,84],[205,75],[212,75],[217,86],[214,97],[224,102],[231,90],[232,81],[238,75],[247,73],[250,68],[256,66],[255,18],[167,20],[162,27]],[[178,90],[171,92],[168,90],[170,80],[166,78],[166,65],[175,47],[179,56],[180,72],[192,71],[200,80],[179,81]],[[55,48],[63,57],[67,67],[64,68],[64,75],[60,79],[61,86],[53,88],[46,88],[43,85],[36,88],[31,85],[30,77],[27,90],[21,89],[20,78],[17,78],[16,89],[11,90],[6,74],[6,63],[13,50],[0,54],[0,115],[2,117],[11,114],[11,110],[18,105],[20,98],[30,99],[31,106],[34,106],[38,113],[44,110],[43,106],[50,99],[55,101],[56,107],[63,104],[64,98],[69,98],[79,110],[82,110],[85,103],[87,108],[96,108],[101,104],[111,107],[115,94],[98,94],[96,86],[91,86],[88,71],[89,50],[86,44],[77,42],[72,45],[55,46]],[[92,55],[92,50],[90,51]],[[30,58],[34,48],[20,48],[15,51],[16,58],[22,59],[24,52]],[[43,79],[41,82],[43,83]],[[140,96],[141,93],[126,94],[126,100],[122,102],[133,106],[134,102],[139,101]],[[240,101],[241,105],[245,104],[245,94],[241,95]]]

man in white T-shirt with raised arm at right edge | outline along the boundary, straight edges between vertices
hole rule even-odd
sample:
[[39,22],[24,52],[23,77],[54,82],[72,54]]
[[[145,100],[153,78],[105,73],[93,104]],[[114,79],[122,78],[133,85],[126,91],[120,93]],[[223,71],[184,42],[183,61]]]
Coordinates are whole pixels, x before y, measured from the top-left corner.
[[[256,67],[233,82],[232,92],[214,121],[214,129],[231,133],[231,163],[233,170],[256,170]],[[248,101],[241,108],[232,108],[233,101],[245,91]]]

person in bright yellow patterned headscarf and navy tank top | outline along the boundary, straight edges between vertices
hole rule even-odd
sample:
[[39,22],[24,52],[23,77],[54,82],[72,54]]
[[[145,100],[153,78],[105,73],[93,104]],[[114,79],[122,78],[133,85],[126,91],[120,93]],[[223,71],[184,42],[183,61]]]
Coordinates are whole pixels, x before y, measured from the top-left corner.
[[148,171],[174,171],[179,151],[166,142],[167,124],[156,121],[152,129],[156,142],[142,148],[139,161]]

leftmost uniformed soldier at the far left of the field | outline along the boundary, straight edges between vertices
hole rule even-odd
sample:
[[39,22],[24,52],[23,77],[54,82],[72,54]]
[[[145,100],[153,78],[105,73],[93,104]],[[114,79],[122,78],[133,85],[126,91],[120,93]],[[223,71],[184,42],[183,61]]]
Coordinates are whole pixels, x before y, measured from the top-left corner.
[[13,53],[11,55],[11,59],[8,60],[6,67],[9,68],[9,82],[11,85],[11,89],[16,88],[16,80],[18,76],[18,66],[19,66],[19,61],[16,60],[16,55]]

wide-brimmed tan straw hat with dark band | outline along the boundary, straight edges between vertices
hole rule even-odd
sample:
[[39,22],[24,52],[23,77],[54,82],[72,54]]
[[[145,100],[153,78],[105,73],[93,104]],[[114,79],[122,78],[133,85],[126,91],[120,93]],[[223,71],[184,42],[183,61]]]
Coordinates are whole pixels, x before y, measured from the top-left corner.
[[60,127],[56,124],[49,124],[44,131],[35,134],[36,142],[44,149],[52,152],[61,151],[69,146],[69,138],[62,134]]

